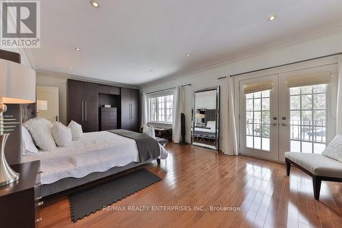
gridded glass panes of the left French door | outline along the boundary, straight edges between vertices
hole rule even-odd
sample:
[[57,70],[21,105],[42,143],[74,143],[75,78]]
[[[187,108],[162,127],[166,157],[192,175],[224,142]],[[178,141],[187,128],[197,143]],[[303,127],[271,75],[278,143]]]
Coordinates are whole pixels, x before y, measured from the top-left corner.
[[246,146],[269,151],[269,92],[246,94]]

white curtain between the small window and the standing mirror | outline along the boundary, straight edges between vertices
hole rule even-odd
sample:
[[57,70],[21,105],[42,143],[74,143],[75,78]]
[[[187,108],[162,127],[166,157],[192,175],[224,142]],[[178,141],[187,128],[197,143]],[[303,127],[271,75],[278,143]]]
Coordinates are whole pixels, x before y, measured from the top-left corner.
[[182,86],[176,87],[174,92],[172,141],[181,142],[181,113],[184,112],[184,91]]

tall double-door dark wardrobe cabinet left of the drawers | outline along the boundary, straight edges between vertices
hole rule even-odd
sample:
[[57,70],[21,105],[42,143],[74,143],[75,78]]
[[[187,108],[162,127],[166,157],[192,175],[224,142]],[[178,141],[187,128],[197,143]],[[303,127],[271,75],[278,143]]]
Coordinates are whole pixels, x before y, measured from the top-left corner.
[[68,123],[82,125],[83,132],[98,131],[98,86],[97,84],[68,79]]

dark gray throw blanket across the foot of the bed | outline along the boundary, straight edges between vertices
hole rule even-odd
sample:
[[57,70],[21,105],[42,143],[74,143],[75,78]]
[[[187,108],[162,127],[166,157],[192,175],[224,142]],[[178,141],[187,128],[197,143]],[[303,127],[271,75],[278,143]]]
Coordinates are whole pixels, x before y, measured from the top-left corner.
[[140,162],[146,162],[147,160],[157,158],[160,155],[159,143],[146,134],[123,129],[109,130],[109,132],[135,140],[137,143],[137,150],[139,151]]

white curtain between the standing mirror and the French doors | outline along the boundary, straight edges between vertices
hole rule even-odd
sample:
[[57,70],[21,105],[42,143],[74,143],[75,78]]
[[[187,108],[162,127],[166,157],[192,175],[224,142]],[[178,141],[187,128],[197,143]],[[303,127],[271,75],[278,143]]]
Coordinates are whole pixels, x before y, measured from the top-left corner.
[[224,140],[223,152],[228,155],[239,155],[237,147],[237,130],[234,113],[234,90],[231,77],[226,79],[226,112],[224,112]]

